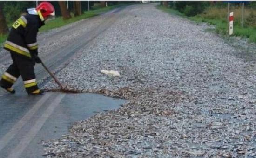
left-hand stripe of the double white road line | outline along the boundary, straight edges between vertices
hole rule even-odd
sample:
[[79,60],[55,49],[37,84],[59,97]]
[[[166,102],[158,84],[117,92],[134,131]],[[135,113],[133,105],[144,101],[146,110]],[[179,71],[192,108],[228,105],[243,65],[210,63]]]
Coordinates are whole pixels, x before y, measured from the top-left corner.
[[37,112],[37,110],[43,105],[45,101],[50,97],[51,95],[49,93],[45,94],[35,105],[32,107],[27,114],[25,114],[22,119],[17,122],[12,129],[6,133],[5,136],[3,136],[0,139],[0,151],[9,143],[11,139],[20,131],[20,129],[27,123],[28,120]]

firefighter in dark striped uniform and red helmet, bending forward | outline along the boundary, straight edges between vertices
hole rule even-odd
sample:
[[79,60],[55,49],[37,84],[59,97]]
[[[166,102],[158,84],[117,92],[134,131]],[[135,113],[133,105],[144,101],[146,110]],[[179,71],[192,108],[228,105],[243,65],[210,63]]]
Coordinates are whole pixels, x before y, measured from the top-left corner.
[[54,6],[49,2],[41,2],[36,8],[28,9],[28,14],[21,16],[12,25],[4,49],[10,52],[13,64],[4,72],[0,80],[0,86],[8,92],[15,93],[12,86],[21,76],[29,95],[43,93],[43,90],[37,86],[34,73],[35,63],[41,63],[37,56],[36,36],[38,29],[50,16],[54,16]]

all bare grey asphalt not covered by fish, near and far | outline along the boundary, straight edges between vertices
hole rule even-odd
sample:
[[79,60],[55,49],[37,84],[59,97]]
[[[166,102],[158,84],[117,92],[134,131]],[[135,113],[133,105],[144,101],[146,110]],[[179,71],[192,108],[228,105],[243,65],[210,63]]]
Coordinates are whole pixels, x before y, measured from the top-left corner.
[[[110,25],[120,18],[121,8],[104,13],[89,20],[98,20],[90,29],[75,37],[68,43],[41,53],[40,57],[51,71],[65,68],[81,47],[86,47],[94,38],[103,33]],[[53,42],[61,36],[70,34],[76,27],[87,25],[89,20],[78,22],[51,34]],[[47,33],[45,33],[47,34]],[[39,37],[41,45],[50,41],[44,40],[46,35]],[[41,41],[40,41],[41,40]],[[9,54],[0,58],[0,62],[10,60]],[[42,66],[36,65],[35,72],[39,86],[46,84],[51,78]],[[57,72],[55,72],[57,73]],[[17,93],[12,95],[0,90],[0,158],[36,158],[44,154],[42,140],[61,137],[68,133],[68,128],[75,121],[84,120],[99,112],[118,108],[123,100],[107,98],[97,94],[65,94],[47,92],[41,96],[29,96],[24,90],[22,80],[13,86]]]

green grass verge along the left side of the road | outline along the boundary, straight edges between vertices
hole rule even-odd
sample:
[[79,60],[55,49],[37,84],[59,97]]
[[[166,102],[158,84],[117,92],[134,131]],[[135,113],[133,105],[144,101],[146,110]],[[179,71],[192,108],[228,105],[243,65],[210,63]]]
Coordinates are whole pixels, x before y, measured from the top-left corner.
[[[44,25],[43,27],[40,28],[39,32],[45,32],[47,30],[51,30],[54,28],[58,28],[76,21],[79,21],[81,19],[87,19],[90,17],[94,17],[97,16],[101,13],[105,13],[109,10],[115,9],[119,6],[122,6],[124,4],[118,4],[118,5],[113,5],[113,6],[108,6],[108,7],[104,7],[104,8],[100,8],[100,7],[92,7],[92,10],[90,11],[86,11],[84,12],[82,15],[74,17],[74,15],[71,15],[72,18],[67,19],[67,20],[63,20],[62,17],[56,17],[54,20],[50,20],[46,22],[46,25]],[[11,27],[12,24],[8,24],[8,27]],[[5,40],[7,39],[7,35],[0,35],[0,44],[2,44]]]

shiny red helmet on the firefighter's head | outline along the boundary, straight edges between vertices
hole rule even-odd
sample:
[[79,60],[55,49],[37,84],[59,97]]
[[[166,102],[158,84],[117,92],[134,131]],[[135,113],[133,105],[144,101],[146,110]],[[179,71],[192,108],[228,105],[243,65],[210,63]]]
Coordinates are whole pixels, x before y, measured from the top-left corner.
[[40,11],[40,13],[42,14],[42,16],[44,18],[46,18],[47,16],[55,16],[54,6],[51,3],[49,3],[49,2],[41,2],[35,8],[35,10],[37,12]]

